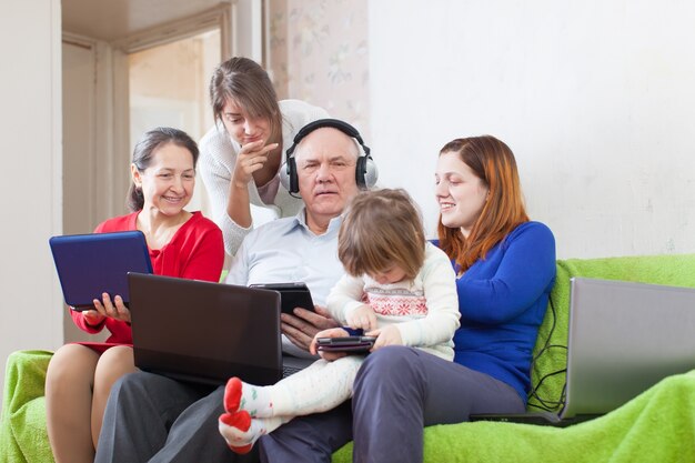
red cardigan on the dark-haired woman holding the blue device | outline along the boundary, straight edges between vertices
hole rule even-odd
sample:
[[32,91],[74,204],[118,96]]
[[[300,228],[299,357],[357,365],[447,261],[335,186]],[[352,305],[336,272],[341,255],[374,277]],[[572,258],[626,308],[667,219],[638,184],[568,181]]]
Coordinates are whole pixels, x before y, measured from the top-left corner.
[[[138,212],[102,222],[94,233],[137,230]],[[150,249],[152,271],[158,275],[218,282],[224,264],[222,231],[200,212],[174,233],[162,249]],[[72,320],[88,333],[99,333],[105,326],[111,336],[105,343],[82,343],[103,352],[112,345],[131,344],[132,331],[123,321],[105,319],[98,326],[88,326],[81,312],[71,311]]]

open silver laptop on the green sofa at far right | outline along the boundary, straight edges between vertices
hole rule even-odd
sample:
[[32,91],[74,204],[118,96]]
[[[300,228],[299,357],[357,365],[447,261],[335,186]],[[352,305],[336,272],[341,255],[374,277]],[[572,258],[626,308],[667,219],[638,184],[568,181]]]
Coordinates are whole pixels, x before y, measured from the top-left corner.
[[695,369],[695,289],[573,278],[565,406],[472,421],[568,425],[611,412]]

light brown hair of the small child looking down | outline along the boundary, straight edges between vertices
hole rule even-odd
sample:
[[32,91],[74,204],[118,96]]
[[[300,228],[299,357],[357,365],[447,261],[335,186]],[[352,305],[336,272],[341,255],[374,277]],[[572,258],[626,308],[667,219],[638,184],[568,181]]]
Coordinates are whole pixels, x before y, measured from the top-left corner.
[[348,205],[338,234],[338,258],[353,275],[399,265],[414,279],[425,260],[420,210],[405,190],[357,193]]

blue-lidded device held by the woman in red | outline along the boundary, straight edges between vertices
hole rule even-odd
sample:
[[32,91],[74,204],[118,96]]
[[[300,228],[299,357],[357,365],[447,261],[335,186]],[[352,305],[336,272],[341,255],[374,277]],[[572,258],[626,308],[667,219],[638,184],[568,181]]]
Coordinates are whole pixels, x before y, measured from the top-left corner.
[[141,231],[52,236],[53,262],[68,305],[90,310],[102,293],[130,302],[128,272],[152,273],[150,252]]

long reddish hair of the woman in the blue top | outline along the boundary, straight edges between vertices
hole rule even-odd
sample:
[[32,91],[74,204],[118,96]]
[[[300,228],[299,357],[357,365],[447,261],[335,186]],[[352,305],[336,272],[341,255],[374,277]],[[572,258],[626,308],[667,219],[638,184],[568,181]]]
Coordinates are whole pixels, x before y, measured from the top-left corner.
[[491,135],[455,139],[440,151],[457,153],[461,160],[490,190],[487,201],[471,233],[464,238],[460,228],[447,228],[440,222],[440,246],[464,273],[479,259],[501,242],[512,230],[528,221],[516,170],[516,161],[510,147]]

